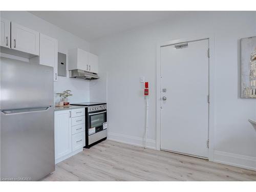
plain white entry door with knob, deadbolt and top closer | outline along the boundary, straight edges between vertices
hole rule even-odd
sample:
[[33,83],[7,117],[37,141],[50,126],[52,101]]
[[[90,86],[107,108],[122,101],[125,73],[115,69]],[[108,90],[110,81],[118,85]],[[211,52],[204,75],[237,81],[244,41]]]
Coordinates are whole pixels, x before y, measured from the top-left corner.
[[161,47],[161,150],[208,158],[208,39]]

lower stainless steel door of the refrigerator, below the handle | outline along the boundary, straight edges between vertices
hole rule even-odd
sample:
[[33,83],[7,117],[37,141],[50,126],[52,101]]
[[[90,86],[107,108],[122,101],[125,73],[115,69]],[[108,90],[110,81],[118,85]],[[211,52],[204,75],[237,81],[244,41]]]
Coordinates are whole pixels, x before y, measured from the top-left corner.
[[53,172],[53,107],[0,113],[1,178],[36,181]]

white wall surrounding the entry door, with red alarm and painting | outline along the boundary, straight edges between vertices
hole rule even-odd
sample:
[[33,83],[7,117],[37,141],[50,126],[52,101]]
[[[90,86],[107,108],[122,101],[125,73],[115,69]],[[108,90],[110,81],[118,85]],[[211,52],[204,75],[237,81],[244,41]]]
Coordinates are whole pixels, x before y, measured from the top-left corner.
[[[215,161],[256,168],[254,99],[239,94],[239,39],[256,34],[255,12],[186,12],[164,22],[104,37],[91,43],[100,72],[108,73],[109,138],[142,144],[143,84],[150,83],[148,138],[156,140],[156,45],[179,38],[215,36]],[[195,109],[196,112],[196,109]]]

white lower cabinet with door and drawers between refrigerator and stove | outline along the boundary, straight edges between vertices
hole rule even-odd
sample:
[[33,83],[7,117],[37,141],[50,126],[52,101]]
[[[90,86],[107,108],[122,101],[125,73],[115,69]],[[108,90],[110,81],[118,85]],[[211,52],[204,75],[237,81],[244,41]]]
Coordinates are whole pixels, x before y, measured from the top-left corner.
[[54,113],[55,164],[81,152],[86,143],[84,108],[79,109],[82,113],[78,117],[72,117],[74,110]]

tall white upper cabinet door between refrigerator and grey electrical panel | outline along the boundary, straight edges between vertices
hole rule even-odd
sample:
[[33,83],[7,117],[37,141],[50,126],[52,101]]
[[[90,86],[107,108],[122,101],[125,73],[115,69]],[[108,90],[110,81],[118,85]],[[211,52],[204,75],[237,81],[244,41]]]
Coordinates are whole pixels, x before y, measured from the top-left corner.
[[54,68],[54,80],[58,74],[58,41],[40,33],[39,64]]

